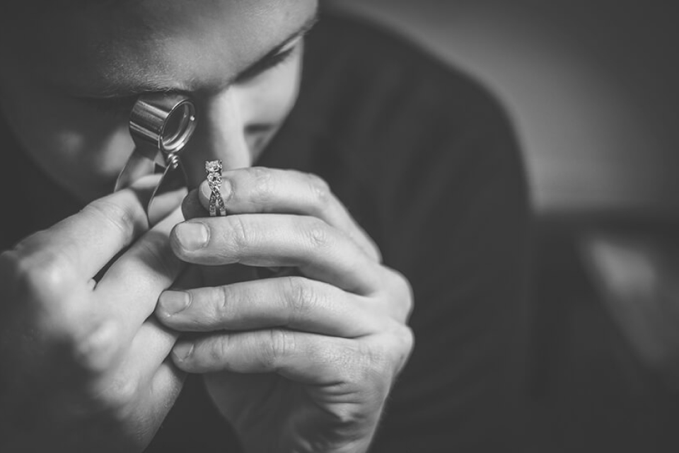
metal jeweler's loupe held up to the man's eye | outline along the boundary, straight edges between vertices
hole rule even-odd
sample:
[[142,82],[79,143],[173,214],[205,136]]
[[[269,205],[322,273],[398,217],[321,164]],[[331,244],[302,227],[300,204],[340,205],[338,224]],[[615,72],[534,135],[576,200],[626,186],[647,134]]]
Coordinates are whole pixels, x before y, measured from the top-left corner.
[[159,217],[158,198],[187,186],[181,153],[195,128],[195,106],[187,96],[152,93],[134,103],[129,115],[129,133],[135,148],[118,175],[115,190],[126,188],[144,176],[160,174],[146,206],[151,223],[156,223]]

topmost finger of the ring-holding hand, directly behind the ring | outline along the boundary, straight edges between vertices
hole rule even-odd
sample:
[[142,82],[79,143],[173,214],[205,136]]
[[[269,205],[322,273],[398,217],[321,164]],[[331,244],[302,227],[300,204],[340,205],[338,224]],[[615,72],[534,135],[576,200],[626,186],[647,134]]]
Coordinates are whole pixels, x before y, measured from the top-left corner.
[[[223,181],[221,195],[227,212],[317,217],[344,231],[373,260],[380,260],[375,243],[318,176],[292,170],[252,167],[226,171]],[[210,194],[207,182],[202,183],[198,198],[204,210],[209,209]],[[195,216],[187,216],[190,217]]]

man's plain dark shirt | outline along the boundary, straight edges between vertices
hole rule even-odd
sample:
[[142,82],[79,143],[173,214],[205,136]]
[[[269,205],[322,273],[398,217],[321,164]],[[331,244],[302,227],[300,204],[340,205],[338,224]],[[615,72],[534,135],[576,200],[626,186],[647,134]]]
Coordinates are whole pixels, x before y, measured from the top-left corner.
[[[1,222],[4,246],[78,209],[47,180],[62,206],[27,210],[26,175],[12,170],[25,159],[10,152],[1,170],[4,212],[25,212]],[[298,103],[257,164],[325,178],[412,284],[415,348],[371,452],[523,451],[528,202],[494,98],[390,33],[326,16],[308,36]],[[234,445],[192,377],[149,452]]]

